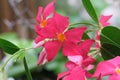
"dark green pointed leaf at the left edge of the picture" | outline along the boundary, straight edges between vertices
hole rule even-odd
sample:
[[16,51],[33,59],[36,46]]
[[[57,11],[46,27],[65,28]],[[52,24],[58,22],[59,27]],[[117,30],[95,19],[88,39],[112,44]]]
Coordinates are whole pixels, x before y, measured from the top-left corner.
[[11,55],[19,50],[19,48],[16,45],[1,38],[0,38],[0,48]]

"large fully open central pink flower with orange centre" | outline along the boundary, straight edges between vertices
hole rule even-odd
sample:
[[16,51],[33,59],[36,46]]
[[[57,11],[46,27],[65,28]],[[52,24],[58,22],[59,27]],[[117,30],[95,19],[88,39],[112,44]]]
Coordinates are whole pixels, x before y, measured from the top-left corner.
[[39,44],[41,46],[41,43],[44,42],[43,46],[47,53],[48,61],[51,61],[56,56],[61,46],[65,56],[79,54],[77,43],[81,40],[86,27],[67,30],[69,25],[67,17],[55,13],[53,19],[54,26],[50,26],[52,29],[49,28],[50,31],[52,30],[51,34],[49,32],[46,32],[46,34],[40,32],[43,37],[46,37],[46,35],[50,37],[41,39],[38,36],[36,38],[38,45],[36,44],[36,46],[38,47]]

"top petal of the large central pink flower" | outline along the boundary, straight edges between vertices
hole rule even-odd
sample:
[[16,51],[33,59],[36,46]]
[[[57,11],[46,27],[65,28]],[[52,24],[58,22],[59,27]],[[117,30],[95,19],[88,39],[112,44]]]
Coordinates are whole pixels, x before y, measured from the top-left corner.
[[64,30],[69,25],[68,17],[62,16],[62,15],[60,15],[58,13],[54,13],[54,19],[56,21],[56,28],[58,30],[58,33],[63,33]]

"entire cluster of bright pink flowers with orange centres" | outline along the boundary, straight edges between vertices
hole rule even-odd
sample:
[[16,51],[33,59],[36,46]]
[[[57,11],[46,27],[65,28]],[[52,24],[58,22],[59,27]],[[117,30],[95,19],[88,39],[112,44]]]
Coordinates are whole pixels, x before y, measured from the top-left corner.
[[[96,31],[96,40],[82,40],[82,36],[86,31],[86,27],[77,27],[68,29],[69,19],[62,16],[54,10],[55,1],[49,3],[43,10],[39,7],[36,17],[37,24],[35,32],[37,38],[34,48],[43,47],[40,52],[38,65],[45,64],[47,61],[54,59],[58,51],[62,48],[64,56],[68,58],[65,64],[66,72],[58,74],[57,80],[87,80],[88,78],[96,78],[102,80],[102,76],[111,75],[109,80],[120,79],[120,57],[108,61],[101,61],[94,74],[89,70],[94,68],[93,63],[96,61],[88,52],[95,44],[95,48],[100,48],[98,41],[100,40],[100,30]],[[108,26],[110,16],[100,16],[100,27]]]

